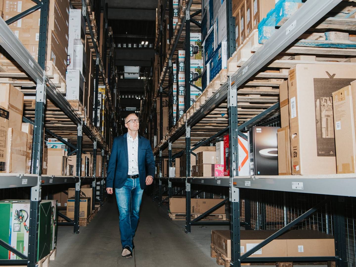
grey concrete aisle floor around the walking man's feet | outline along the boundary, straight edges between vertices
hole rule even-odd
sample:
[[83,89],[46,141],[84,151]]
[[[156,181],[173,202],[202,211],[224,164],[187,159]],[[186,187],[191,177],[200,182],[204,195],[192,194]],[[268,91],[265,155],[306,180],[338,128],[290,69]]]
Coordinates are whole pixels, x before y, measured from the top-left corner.
[[[211,228],[194,226],[184,233],[185,221],[171,221],[164,209],[143,194],[134,258],[121,257],[119,214],[116,203],[105,203],[80,234],[73,227],[58,228],[57,258],[51,267],[216,267],[210,257]],[[214,226],[214,229],[226,226]]]

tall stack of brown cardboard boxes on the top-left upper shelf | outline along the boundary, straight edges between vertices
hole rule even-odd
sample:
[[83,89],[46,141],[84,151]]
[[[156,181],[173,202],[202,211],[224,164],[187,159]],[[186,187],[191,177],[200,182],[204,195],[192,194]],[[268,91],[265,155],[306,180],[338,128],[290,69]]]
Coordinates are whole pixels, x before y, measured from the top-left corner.
[[[0,1],[1,5],[2,3],[5,21],[35,6],[35,2],[31,0]],[[38,40],[40,38],[40,14],[41,11],[37,10],[9,25],[10,29],[36,61],[38,59]],[[58,72],[65,77],[69,38],[69,0],[50,1],[48,15],[46,72],[52,73],[53,67],[56,67]],[[4,51],[0,52],[0,57],[10,58]]]

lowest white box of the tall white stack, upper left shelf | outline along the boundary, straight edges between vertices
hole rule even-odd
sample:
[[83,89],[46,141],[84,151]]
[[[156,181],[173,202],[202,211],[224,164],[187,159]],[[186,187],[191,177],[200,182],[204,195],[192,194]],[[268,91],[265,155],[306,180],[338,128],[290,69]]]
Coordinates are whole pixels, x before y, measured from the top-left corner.
[[80,72],[80,70],[77,69],[67,70],[66,84],[67,84],[66,99],[79,100],[83,102],[84,77]]

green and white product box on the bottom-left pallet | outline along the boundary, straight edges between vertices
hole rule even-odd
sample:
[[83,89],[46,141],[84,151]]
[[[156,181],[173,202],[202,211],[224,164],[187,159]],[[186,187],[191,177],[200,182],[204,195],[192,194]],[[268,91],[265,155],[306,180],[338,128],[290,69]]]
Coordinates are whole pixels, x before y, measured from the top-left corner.
[[[37,261],[47,256],[56,244],[56,202],[56,200],[42,200],[40,202]],[[29,200],[0,201],[0,239],[26,256],[28,254],[29,215]],[[51,235],[47,234],[49,232]],[[17,260],[20,257],[0,246],[0,259]]]

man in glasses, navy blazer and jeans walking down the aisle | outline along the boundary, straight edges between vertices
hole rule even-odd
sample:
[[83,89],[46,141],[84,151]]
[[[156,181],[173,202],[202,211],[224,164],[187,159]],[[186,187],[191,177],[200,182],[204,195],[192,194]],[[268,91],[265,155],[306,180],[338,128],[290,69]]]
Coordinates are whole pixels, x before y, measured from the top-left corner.
[[125,118],[127,133],[114,138],[106,177],[106,192],[115,189],[120,211],[121,255],[132,258],[143,189],[153,182],[155,159],[148,139],[138,135],[135,113]]

